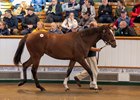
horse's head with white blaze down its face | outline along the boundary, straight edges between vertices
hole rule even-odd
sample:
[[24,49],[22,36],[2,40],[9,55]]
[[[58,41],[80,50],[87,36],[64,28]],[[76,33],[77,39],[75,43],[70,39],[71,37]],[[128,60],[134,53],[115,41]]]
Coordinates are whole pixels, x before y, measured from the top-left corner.
[[116,40],[114,37],[114,32],[112,31],[111,27],[109,25],[103,25],[101,26],[101,38],[106,43],[111,45],[111,47],[115,48]]

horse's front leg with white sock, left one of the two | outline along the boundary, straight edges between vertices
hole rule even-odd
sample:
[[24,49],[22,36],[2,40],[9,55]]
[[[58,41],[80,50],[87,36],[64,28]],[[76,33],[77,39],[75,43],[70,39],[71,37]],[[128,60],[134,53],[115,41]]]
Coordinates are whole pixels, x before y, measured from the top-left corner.
[[70,60],[69,68],[67,70],[67,76],[66,76],[66,78],[64,79],[64,82],[63,82],[64,87],[65,87],[65,91],[69,90],[69,87],[68,87],[68,84],[67,84],[68,83],[68,78],[69,78],[69,75],[70,75],[75,63],[76,63],[76,61]]

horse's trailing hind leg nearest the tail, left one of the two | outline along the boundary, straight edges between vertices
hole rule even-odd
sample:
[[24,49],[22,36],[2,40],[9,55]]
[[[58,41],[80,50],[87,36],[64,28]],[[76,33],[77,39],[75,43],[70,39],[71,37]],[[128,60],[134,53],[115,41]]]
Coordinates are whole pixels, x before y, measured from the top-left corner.
[[22,64],[23,66],[23,80],[19,82],[18,86],[22,86],[27,82],[27,68],[32,64],[31,58]]

